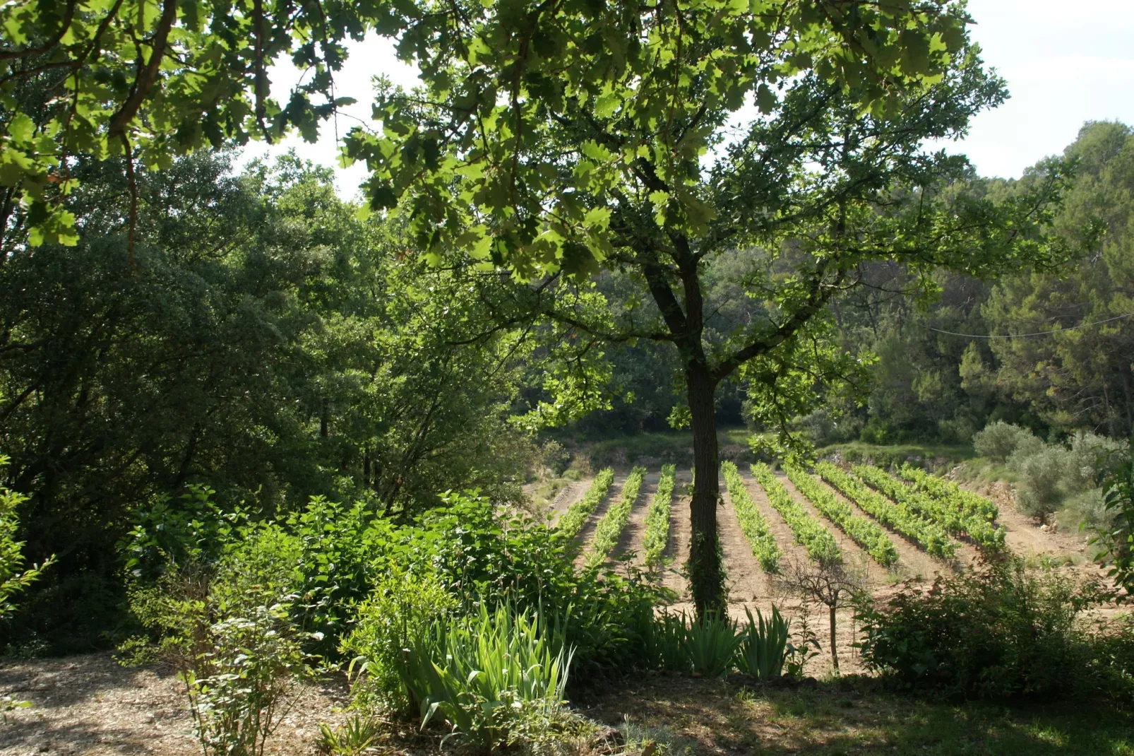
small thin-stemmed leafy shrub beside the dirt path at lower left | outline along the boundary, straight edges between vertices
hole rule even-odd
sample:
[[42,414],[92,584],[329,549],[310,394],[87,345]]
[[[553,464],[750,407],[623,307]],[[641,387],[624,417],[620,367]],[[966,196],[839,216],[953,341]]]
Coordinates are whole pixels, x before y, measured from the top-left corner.
[[130,604],[185,684],[205,754],[262,754],[306,674],[293,618],[302,547],[277,523],[245,523],[215,561],[170,561]]

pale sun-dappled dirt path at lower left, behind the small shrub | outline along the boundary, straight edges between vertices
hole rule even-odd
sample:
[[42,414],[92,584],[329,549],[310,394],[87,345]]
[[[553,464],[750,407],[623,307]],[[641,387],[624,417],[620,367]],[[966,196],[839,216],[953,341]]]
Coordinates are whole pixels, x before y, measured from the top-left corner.
[[[9,662],[0,695],[32,702],[0,725],[0,754],[200,756],[180,683],[159,667],[126,669],[110,654]],[[266,754],[318,751],[319,722],[338,725],[344,686],[299,686]]]

